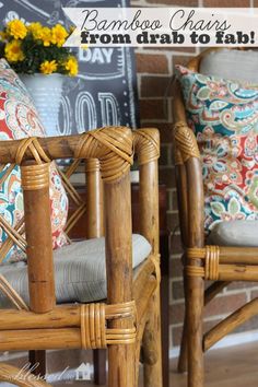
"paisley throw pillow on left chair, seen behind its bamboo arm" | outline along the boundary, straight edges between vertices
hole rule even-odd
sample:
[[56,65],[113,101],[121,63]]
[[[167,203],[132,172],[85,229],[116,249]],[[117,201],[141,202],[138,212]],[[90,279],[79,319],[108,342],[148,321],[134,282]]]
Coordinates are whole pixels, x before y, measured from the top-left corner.
[[[33,102],[15,72],[4,59],[0,60],[0,140],[45,137]],[[10,173],[11,171],[11,173]],[[63,227],[68,214],[68,198],[55,163],[50,164],[50,212],[52,247],[67,244]],[[23,218],[23,194],[20,167],[0,167],[0,215],[13,227]],[[5,231],[0,227],[0,246],[7,239]],[[14,245],[4,257],[5,261],[24,259],[23,251]]]

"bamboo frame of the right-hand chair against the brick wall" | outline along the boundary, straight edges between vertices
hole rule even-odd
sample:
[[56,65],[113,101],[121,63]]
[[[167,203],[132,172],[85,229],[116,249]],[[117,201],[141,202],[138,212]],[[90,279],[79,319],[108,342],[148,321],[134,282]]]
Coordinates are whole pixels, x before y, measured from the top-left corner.
[[[188,63],[199,71],[202,51]],[[203,352],[232,330],[257,315],[257,298],[250,301],[203,335],[203,306],[232,281],[258,281],[257,247],[209,246],[204,239],[202,166],[196,137],[187,125],[180,85],[174,87],[174,144],[180,234],[184,246],[186,313],[178,372],[188,370],[188,387],[203,386]],[[204,290],[206,281],[213,281]]]

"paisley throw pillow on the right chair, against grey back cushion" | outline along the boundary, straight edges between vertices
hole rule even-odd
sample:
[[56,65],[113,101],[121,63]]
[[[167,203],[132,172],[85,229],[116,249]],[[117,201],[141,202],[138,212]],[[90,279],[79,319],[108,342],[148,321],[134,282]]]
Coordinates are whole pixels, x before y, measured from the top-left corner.
[[258,86],[176,71],[202,159],[206,230],[258,220]]

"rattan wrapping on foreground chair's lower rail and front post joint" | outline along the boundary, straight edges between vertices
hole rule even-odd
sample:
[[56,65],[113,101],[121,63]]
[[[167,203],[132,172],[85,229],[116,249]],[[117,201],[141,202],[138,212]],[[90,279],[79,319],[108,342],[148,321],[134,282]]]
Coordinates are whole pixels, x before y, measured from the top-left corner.
[[[130,318],[131,328],[107,328],[107,320]],[[81,342],[83,349],[106,348],[110,344],[136,342],[136,303],[81,305]]]

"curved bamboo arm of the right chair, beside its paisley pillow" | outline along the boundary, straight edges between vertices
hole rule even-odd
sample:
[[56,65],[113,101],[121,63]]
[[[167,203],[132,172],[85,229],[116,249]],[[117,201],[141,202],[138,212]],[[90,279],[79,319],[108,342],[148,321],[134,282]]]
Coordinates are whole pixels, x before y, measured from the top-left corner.
[[183,199],[186,197],[186,199],[179,200],[183,212],[180,219],[184,244],[188,247],[202,247],[204,241],[204,197],[200,152],[195,133],[187,125],[178,82],[175,83],[174,93],[175,164],[180,195]]

